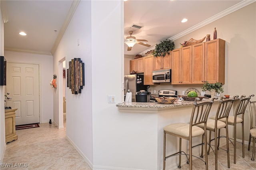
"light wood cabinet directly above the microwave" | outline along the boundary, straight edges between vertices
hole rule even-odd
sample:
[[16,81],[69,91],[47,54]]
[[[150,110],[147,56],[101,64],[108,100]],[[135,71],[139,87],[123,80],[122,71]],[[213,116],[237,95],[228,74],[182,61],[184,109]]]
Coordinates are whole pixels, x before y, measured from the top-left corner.
[[166,53],[164,57],[154,57],[154,71],[171,69],[171,56],[172,51],[170,51],[170,54]]

